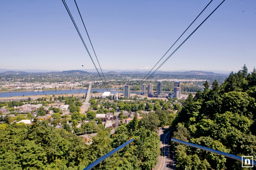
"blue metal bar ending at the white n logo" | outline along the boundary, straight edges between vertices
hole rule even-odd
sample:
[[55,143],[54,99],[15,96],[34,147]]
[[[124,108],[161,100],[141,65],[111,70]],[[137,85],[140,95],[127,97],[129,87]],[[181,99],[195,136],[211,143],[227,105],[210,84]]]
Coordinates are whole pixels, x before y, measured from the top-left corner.
[[[174,142],[180,143],[180,144],[196,147],[198,149],[202,149],[202,150],[205,150],[205,151],[208,151],[208,152],[213,152],[213,153],[216,153],[218,155],[222,155],[222,156],[225,156],[225,157],[228,157],[228,158],[240,160],[241,162],[242,161],[245,162],[245,159],[246,159],[246,158],[242,158],[240,156],[231,155],[231,154],[226,153],[226,152],[221,152],[221,151],[217,151],[217,150],[214,150],[214,149],[210,149],[208,147],[203,147],[203,146],[200,146],[200,145],[191,144],[191,143],[188,143],[188,142],[185,142],[185,141],[182,141],[182,140],[173,139],[173,138],[171,140],[174,141]],[[256,166],[256,162],[255,161],[253,161],[253,165]]]

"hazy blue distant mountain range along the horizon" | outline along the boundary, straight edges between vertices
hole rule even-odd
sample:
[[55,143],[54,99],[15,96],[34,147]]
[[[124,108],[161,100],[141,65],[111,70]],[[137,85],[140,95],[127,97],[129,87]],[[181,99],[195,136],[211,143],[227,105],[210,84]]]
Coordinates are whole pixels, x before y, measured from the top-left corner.
[[[89,70],[89,69],[87,69]],[[115,70],[115,71],[109,71],[109,70],[102,70],[105,73],[108,74],[147,74],[148,71],[137,71],[137,70]],[[59,71],[59,70],[38,70],[38,69],[24,69],[24,70],[8,70],[8,69],[0,69],[0,74],[28,74],[28,73],[49,73],[49,72],[62,72],[62,73],[80,73],[80,74],[88,74],[88,73],[95,73],[93,69],[90,69],[90,71],[83,71],[83,70],[67,70],[67,71]],[[187,71],[187,70],[177,70],[177,71],[156,71],[155,74],[166,74],[166,75],[228,75],[229,71],[218,71],[219,73],[214,73],[213,71]],[[224,72],[224,73],[221,73]]]

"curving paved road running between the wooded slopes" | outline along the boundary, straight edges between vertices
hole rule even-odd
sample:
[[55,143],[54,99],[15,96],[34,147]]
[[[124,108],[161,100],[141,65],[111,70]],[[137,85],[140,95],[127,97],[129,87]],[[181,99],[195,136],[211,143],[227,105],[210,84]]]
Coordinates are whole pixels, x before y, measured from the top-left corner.
[[[168,126],[165,127],[169,128]],[[156,167],[153,170],[175,170],[175,162],[173,161],[174,153],[169,145],[171,136],[169,135],[169,132],[164,133],[164,129],[159,130],[159,136],[160,136],[160,150],[161,154],[159,156],[159,163],[157,163]],[[166,142],[167,139],[167,142]],[[168,155],[167,155],[168,152]]]

